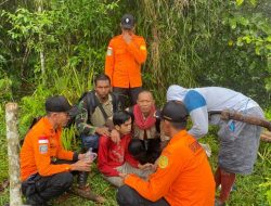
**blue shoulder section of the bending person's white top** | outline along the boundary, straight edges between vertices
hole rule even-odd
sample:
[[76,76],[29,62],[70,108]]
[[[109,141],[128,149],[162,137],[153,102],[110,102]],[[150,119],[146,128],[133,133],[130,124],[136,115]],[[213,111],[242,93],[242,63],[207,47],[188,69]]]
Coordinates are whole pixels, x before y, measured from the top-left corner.
[[186,106],[189,113],[191,113],[193,110],[206,106],[204,96],[195,90],[190,90],[186,93],[183,103]]

